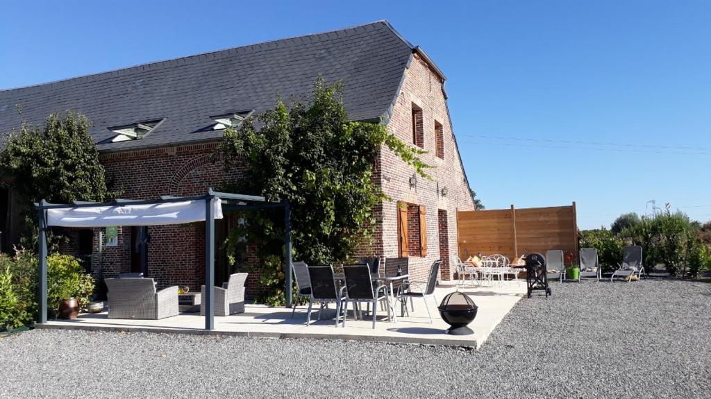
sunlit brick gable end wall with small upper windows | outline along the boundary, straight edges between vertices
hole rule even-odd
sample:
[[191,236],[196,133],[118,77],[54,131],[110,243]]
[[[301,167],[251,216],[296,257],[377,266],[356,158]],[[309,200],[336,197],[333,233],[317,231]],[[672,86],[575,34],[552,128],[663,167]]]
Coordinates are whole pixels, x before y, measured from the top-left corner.
[[[397,256],[397,201],[422,204],[427,207],[427,257],[410,256],[410,273],[414,279],[426,279],[432,262],[444,253],[451,264],[451,258],[458,256],[456,239],[456,211],[474,209],[469,195],[469,187],[464,178],[464,170],[459,160],[454,136],[444,98],[442,82],[419,55],[413,55],[410,67],[405,71],[402,89],[392,109],[387,129],[405,143],[412,143],[412,104],[422,109],[424,126],[424,149],[429,153],[422,159],[434,165],[429,170],[432,181],[417,178],[417,187],[410,187],[410,177],[414,170],[406,167],[392,151],[385,146],[380,155],[380,182],[390,201],[383,202],[383,224],[379,230],[383,246],[382,256]],[[444,158],[437,157],[437,143],[434,121],[442,124],[442,149]],[[447,196],[442,197],[442,188],[447,187]],[[439,212],[447,211],[447,242],[435,239],[439,236]],[[440,242],[447,251],[439,251]],[[444,259],[443,259],[444,261]],[[444,270],[443,279],[451,279],[453,270]]]

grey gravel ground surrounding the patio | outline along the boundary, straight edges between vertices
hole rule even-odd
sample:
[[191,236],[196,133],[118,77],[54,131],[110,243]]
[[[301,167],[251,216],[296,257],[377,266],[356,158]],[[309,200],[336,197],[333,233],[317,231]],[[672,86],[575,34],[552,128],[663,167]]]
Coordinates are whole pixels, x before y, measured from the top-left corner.
[[0,397],[711,398],[711,285],[553,285],[480,351],[34,330],[0,339]]

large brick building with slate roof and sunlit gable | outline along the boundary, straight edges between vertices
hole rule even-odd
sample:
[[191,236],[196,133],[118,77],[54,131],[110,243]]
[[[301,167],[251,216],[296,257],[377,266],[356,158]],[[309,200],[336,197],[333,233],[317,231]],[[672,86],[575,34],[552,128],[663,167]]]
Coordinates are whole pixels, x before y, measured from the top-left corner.
[[[306,97],[318,76],[343,80],[348,116],[387,124],[397,137],[428,151],[432,180],[383,148],[375,178],[392,201],[378,212],[375,255],[408,256],[410,273],[424,277],[443,259],[442,279],[454,273],[456,211],[474,209],[469,184],[451,129],[445,77],[421,48],[411,45],[387,21],[339,31],[129,67],[32,87],[0,91],[0,133],[26,121],[41,122],[51,111],[73,109],[93,123],[92,136],[105,165],[109,188],[123,197],[196,195],[240,170],[223,171],[213,157],[227,125],[272,108],[282,98]],[[16,239],[12,190],[1,193],[4,251]],[[229,222],[218,223],[225,234]],[[136,270],[137,228],[119,228],[107,246],[105,229],[76,232],[67,251],[91,253],[104,277]],[[150,226],[148,270],[161,287],[204,281],[204,228]],[[219,237],[219,235],[218,235]],[[215,282],[230,273],[215,264]]]

